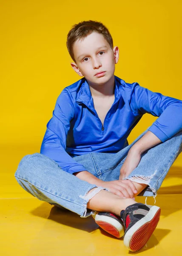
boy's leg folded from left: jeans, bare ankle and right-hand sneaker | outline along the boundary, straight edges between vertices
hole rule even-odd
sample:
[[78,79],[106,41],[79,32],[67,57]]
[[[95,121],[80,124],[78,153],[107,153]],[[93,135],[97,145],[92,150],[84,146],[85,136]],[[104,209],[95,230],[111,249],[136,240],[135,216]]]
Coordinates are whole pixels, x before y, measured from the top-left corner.
[[[88,154],[86,157],[89,156]],[[43,154],[35,153],[23,157],[15,177],[18,183],[31,195],[42,201],[61,205],[76,212],[81,217],[91,215],[91,209],[114,212],[117,215],[121,210],[120,216],[124,222],[121,231],[124,232],[126,228],[124,243],[129,250],[142,248],[159,221],[159,207],[146,207],[143,204],[137,204],[132,199],[122,199],[105,191],[107,190],[105,188],[80,180],[74,175],[64,172],[54,160]],[[87,207],[91,209],[87,211]],[[136,212],[140,215],[139,219],[133,217]],[[131,218],[130,224],[128,218]],[[141,243],[136,240],[136,235],[143,236],[146,233],[146,228],[151,231],[147,237],[145,236],[145,241],[142,240]]]

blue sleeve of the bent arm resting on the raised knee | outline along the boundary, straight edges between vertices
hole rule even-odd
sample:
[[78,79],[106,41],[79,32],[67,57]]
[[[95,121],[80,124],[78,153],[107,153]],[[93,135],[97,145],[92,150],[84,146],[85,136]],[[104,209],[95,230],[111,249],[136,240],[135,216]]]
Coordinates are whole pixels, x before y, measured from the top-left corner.
[[134,113],[159,116],[149,128],[162,142],[182,130],[182,101],[133,83],[130,107]]

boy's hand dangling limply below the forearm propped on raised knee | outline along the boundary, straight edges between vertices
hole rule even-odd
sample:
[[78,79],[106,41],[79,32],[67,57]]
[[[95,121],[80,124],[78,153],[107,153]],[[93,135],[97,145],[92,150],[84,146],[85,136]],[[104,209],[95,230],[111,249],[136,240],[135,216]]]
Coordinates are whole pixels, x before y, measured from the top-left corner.
[[136,148],[131,148],[120,169],[119,180],[124,180],[125,177],[128,177],[128,175],[138,166],[140,160],[141,153]]

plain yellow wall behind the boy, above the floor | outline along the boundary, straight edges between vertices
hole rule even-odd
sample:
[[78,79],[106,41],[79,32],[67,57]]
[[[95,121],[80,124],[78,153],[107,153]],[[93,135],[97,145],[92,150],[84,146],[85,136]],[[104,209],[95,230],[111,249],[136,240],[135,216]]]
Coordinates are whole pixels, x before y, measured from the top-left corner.
[[[179,0],[0,1],[1,145],[40,152],[57,97],[81,78],[71,68],[66,39],[83,20],[108,27],[119,47],[116,76],[182,99],[181,10]],[[155,120],[145,114],[129,144]]]

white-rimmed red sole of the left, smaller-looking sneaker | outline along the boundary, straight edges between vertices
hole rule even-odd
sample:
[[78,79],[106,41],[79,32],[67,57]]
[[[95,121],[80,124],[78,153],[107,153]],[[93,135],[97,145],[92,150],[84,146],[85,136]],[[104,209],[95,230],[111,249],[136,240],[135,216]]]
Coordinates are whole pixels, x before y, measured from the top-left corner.
[[114,218],[101,215],[96,215],[93,218],[97,225],[99,225],[99,227],[101,227],[112,236],[115,236],[117,238],[124,236],[125,231],[122,224],[120,224],[119,221],[115,220]]

